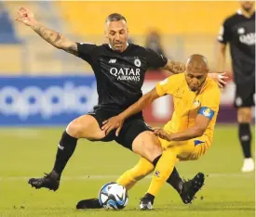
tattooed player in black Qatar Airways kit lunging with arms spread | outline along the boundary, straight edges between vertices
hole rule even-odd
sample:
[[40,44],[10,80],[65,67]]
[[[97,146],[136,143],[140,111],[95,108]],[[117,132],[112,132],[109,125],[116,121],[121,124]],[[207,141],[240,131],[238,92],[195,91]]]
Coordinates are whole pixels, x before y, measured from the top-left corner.
[[[120,14],[111,14],[106,19],[105,35],[109,44],[104,45],[70,41],[61,33],[37,22],[34,14],[24,7],[20,7],[17,20],[30,26],[49,44],[87,61],[95,73],[99,95],[99,103],[92,112],[68,124],[61,136],[53,170],[42,178],[30,179],[29,184],[35,188],[57,190],[61,172],[73,155],[79,138],[104,142],[115,140],[123,147],[141,155],[141,163],[155,165],[162,150],[160,146],[156,146],[159,141],[143,121],[141,112],[124,123],[118,136],[115,132],[105,135],[101,130],[102,122],[127,109],[142,96],[141,86],[148,68],[179,73],[184,70],[184,64],[168,60],[140,45],[128,45],[127,20]],[[203,185],[204,175],[198,173],[194,179],[184,182],[175,169],[167,182],[179,192],[184,203],[190,203]],[[99,206],[98,199],[88,199],[77,208],[100,208]]]

